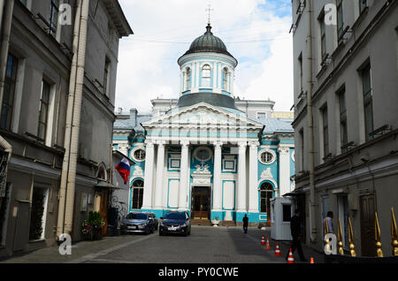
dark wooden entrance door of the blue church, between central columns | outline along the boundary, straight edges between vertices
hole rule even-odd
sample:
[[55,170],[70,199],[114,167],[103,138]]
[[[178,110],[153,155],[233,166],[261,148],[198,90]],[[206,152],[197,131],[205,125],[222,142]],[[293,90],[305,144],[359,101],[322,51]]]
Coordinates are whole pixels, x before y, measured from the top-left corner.
[[194,187],[192,194],[194,219],[210,219],[210,187]]

